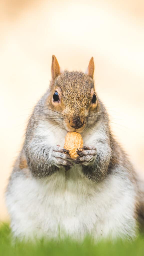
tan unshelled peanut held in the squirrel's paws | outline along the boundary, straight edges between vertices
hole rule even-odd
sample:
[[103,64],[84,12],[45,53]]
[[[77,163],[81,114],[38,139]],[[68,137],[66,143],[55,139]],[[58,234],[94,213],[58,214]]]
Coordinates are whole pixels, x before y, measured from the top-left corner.
[[68,132],[65,139],[64,148],[69,150],[71,158],[76,159],[78,157],[77,148],[83,147],[83,139],[80,133]]

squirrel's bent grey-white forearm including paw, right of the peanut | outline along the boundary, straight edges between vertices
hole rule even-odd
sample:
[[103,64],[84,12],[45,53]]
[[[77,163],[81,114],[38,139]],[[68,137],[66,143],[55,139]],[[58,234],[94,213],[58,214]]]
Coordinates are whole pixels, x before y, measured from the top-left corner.
[[97,147],[87,146],[77,150],[79,155],[75,164],[82,166],[87,178],[99,182],[106,177],[111,160],[111,149],[106,142],[97,142]]

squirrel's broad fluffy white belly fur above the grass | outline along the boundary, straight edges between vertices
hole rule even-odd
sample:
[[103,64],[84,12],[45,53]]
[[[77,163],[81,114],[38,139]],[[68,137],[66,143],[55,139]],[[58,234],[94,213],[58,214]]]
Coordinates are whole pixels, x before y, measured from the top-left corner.
[[115,176],[96,185],[74,167],[44,180],[16,177],[7,206],[15,236],[99,240],[135,235],[134,196]]

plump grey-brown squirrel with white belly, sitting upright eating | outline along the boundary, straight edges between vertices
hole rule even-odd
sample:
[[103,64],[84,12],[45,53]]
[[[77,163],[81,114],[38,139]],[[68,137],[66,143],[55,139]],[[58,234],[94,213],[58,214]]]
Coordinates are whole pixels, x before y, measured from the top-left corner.
[[[29,119],[6,190],[15,237],[137,237],[144,191],[112,135],[107,110],[95,91],[94,69],[92,57],[86,73],[61,72],[52,57],[50,87]],[[63,148],[68,132],[83,138],[77,159]]]

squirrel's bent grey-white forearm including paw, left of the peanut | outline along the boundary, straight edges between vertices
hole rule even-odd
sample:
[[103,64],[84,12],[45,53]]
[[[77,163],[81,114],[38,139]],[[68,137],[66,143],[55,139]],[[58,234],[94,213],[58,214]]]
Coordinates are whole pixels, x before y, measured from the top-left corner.
[[68,170],[73,166],[69,151],[60,146],[40,146],[32,141],[24,149],[28,166],[35,177],[43,178],[55,173],[58,168]]

